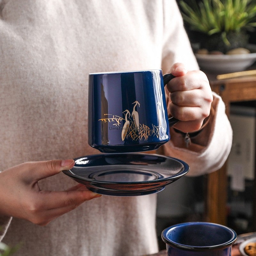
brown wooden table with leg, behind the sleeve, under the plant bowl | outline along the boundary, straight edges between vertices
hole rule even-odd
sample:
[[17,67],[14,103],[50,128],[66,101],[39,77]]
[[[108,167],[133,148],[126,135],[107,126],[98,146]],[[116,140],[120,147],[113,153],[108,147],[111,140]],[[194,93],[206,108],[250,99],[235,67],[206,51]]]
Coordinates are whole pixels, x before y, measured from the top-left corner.
[[[231,102],[256,100],[256,76],[216,80],[208,75],[208,79],[212,91],[222,97],[228,116]],[[207,175],[206,190],[206,221],[227,225],[227,163],[220,170]],[[255,216],[256,200],[255,198],[253,200],[253,216]],[[254,225],[256,230],[256,218]]]

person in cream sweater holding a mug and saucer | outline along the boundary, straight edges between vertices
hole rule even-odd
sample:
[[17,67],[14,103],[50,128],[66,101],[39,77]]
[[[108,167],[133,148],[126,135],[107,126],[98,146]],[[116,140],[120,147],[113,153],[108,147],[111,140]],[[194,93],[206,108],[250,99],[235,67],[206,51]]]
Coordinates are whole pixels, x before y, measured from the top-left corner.
[[1,0],[0,10],[2,242],[22,256],[157,252],[156,194],[100,196],[61,171],[100,153],[87,143],[88,74],[120,70],[177,76],[166,97],[181,121],[163,154],[189,175],[225,162],[225,105],[198,70],[175,0]]

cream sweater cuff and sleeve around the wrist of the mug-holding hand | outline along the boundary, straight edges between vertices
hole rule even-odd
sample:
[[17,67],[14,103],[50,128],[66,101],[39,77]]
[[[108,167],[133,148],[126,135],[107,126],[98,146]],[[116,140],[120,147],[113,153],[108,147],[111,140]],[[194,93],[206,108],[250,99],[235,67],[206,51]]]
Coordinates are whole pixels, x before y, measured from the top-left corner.
[[197,176],[218,170],[227,160],[232,146],[232,128],[225,114],[225,104],[213,92],[212,114],[208,124],[188,148],[184,136],[171,128],[171,140],[159,150],[166,156],[179,158],[190,167],[188,175]]

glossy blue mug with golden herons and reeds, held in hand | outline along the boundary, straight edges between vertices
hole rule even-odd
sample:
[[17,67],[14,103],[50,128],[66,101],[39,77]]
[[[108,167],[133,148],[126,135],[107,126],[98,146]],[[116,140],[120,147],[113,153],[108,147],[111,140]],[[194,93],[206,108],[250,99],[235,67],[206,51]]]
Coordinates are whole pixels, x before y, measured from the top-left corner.
[[170,139],[162,70],[89,74],[88,143],[104,153],[154,150]]

